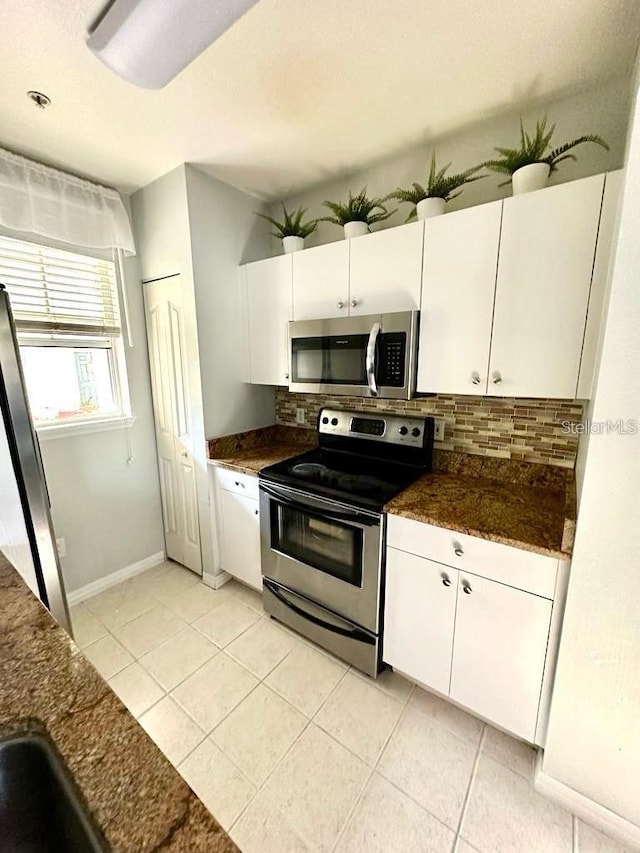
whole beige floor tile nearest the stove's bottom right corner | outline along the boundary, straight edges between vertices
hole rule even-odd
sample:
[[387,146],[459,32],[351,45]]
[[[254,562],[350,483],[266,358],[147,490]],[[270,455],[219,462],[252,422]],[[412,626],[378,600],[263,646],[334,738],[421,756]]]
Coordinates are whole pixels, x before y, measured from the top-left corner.
[[316,725],[373,764],[382,752],[403,704],[348,672],[314,717]]

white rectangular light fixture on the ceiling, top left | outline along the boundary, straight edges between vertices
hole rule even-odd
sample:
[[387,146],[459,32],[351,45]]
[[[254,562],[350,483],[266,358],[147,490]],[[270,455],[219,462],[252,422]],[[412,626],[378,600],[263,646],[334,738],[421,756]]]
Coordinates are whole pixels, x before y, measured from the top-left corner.
[[120,77],[161,89],[257,0],[111,0],[87,46]]

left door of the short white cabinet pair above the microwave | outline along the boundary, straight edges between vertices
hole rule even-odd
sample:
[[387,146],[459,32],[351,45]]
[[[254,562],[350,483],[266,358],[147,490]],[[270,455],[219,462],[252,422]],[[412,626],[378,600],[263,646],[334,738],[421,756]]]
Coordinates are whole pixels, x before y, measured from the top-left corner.
[[293,319],[349,314],[349,240],[293,254]]

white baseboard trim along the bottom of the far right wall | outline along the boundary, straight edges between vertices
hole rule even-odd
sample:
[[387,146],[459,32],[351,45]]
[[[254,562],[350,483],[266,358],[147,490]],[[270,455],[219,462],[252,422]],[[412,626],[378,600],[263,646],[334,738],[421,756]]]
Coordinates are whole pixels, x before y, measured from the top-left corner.
[[606,806],[585,797],[564,782],[559,782],[542,769],[543,753],[538,752],[533,787],[550,800],[555,800],[568,811],[573,812],[585,823],[591,824],[601,832],[610,835],[624,847],[640,851],[640,826],[625,820]]

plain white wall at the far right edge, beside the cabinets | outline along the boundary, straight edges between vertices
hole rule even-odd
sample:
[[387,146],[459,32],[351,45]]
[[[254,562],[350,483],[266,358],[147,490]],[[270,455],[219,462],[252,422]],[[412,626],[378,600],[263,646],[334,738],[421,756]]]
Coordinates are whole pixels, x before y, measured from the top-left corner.
[[[636,86],[637,90],[637,86]],[[640,108],[594,421],[640,423]],[[591,435],[543,770],[640,826],[640,434]]]

